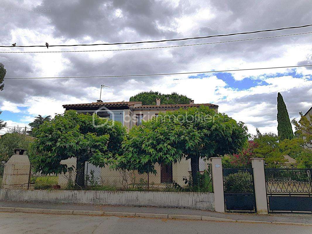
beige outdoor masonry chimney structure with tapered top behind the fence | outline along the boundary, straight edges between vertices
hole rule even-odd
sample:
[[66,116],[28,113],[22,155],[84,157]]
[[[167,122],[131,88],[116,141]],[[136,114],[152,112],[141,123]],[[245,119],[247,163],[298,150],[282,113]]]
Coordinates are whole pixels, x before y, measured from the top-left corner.
[[2,188],[27,189],[30,171],[27,149],[14,149],[14,153],[4,165]]

